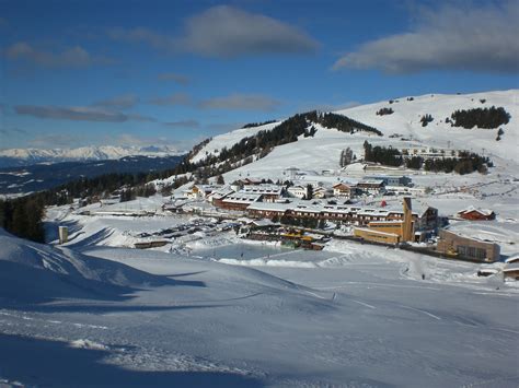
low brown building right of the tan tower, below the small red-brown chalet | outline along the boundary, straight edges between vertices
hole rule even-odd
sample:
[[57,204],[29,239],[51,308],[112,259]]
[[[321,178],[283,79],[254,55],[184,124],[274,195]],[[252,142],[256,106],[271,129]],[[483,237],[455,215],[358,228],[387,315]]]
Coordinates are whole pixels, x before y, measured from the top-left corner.
[[499,245],[464,237],[451,231],[441,230],[437,250],[450,257],[476,261],[499,260]]

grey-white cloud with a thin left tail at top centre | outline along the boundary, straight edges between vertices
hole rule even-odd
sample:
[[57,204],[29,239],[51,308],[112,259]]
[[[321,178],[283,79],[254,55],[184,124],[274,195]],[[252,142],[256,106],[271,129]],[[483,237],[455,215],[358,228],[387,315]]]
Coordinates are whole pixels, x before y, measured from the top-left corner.
[[158,50],[224,58],[312,52],[319,47],[315,39],[298,27],[228,5],[212,7],[187,19],[180,37],[145,27],[116,27],[107,34],[114,40],[148,44]]

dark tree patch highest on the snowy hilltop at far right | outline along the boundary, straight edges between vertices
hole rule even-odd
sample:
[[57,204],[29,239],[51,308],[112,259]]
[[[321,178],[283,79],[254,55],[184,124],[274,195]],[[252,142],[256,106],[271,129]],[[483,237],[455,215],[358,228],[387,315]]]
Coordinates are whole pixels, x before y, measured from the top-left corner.
[[452,126],[471,129],[474,127],[494,129],[510,121],[510,114],[503,107],[474,108],[455,110],[452,115]]

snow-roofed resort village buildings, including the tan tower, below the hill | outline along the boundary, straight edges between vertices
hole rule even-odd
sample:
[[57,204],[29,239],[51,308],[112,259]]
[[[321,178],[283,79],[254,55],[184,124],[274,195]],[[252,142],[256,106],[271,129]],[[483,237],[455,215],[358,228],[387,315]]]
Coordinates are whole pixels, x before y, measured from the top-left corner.
[[[240,211],[255,220],[285,220],[289,223],[290,220],[324,220],[349,225],[356,238],[370,243],[396,245],[424,242],[438,235],[436,251],[443,256],[475,261],[499,259],[497,244],[441,230],[443,220],[438,216],[438,210],[420,203],[413,209],[410,197],[404,197],[403,208],[361,207],[348,201],[359,195],[387,195],[392,188],[400,195],[408,195],[411,179],[405,176],[369,176],[356,184],[338,181],[331,187],[315,186],[310,193],[309,186],[262,184],[247,178],[230,186],[194,185],[185,191],[185,197],[204,199],[216,208]],[[495,213],[470,207],[458,212],[457,216],[494,220]]]

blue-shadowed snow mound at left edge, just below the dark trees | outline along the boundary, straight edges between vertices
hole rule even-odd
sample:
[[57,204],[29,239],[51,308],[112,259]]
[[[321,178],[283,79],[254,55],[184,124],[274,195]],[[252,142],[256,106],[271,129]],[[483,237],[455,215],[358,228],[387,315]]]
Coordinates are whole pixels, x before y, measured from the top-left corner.
[[70,249],[16,238],[0,228],[0,302],[46,302],[60,297],[118,299],[134,287],[164,279]]

